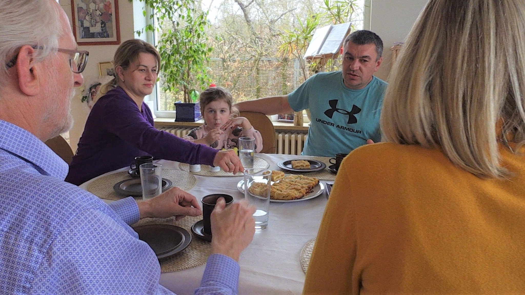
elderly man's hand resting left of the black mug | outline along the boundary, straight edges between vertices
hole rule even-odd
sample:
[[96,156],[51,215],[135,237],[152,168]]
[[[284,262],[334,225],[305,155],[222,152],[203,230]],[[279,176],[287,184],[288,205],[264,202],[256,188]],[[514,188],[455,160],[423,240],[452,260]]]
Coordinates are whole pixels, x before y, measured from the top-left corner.
[[195,196],[177,187],[173,187],[153,199],[137,202],[137,205],[139,206],[140,218],[176,216],[175,220],[180,220],[184,216],[202,214]]

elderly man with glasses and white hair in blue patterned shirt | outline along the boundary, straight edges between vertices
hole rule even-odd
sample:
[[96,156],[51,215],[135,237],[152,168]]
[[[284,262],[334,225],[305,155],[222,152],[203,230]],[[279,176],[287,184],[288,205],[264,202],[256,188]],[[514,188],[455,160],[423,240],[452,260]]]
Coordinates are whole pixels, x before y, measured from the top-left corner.
[[[66,132],[87,51],[54,0],[0,0],[0,290],[2,294],[172,294],[129,226],[142,217],[198,216],[178,188],[107,205],[64,182],[67,164],[43,141]],[[38,29],[34,28],[38,19]],[[96,165],[97,163],[93,163]],[[217,202],[212,255],[196,293],[236,294],[253,206]]]

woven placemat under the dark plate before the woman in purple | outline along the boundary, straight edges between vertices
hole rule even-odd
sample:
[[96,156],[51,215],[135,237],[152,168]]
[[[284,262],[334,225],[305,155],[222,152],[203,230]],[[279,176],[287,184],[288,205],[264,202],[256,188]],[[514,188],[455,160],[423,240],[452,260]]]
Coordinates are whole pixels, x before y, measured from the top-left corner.
[[[101,199],[117,201],[127,198],[127,195],[119,194],[113,190],[113,185],[122,180],[130,179],[128,171],[108,174],[101,178],[93,180],[88,184],[88,192],[98,196]],[[188,191],[197,183],[197,179],[191,173],[174,169],[162,169],[162,178],[169,179],[173,182],[173,187],[179,187]],[[140,196],[134,196],[137,200],[142,200]]]

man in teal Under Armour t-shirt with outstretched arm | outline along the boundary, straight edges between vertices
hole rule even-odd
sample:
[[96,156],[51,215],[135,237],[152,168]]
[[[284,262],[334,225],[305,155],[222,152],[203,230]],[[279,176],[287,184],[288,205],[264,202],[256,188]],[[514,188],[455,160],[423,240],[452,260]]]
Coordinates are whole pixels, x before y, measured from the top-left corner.
[[373,74],[383,58],[383,42],[360,30],[344,40],[341,71],[318,73],[288,95],[237,104],[239,111],[267,115],[309,108],[311,123],[302,155],[333,157],[381,140],[379,119],[386,82]]

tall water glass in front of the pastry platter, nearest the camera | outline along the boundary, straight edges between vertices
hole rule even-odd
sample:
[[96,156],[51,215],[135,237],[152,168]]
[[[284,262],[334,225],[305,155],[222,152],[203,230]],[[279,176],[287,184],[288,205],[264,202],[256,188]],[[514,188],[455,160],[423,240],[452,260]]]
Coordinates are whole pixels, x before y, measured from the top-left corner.
[[255,230],[261,231],[268,226],[270,208],[271,170],[244,169],[244,198],[254,205]]

